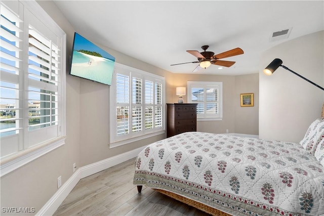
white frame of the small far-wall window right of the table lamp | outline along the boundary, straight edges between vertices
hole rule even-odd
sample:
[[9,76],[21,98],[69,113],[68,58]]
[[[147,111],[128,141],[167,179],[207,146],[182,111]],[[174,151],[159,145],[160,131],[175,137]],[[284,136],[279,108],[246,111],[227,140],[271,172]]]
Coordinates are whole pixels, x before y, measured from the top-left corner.
[[[221,121],[223,120],[223,82],[210,82],[210,81],[187,81],[187,101],[188,103],[199,103],[197,101],[191,100],[191,89],[192,88],[201,88],[201,89],[207,89],[207,88],[214,88],[218,89],[218,114],[207,114],[207,113],[197,113],[197,121]],[[201,102],[200,102],[201,103]],[[204,107],[206,107],[207,104],[207,98],[206,94],[204,94]],[[198,109],[197,109],[198,111]]]

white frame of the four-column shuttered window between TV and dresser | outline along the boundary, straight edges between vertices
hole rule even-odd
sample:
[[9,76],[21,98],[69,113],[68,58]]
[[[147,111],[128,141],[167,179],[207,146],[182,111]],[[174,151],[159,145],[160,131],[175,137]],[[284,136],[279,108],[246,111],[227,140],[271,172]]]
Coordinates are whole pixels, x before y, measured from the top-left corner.
[[[126,76],[129,76],[129,94],[128,94],[128,103],[123,104],[117,104],[116,100],[116,76],[117,74],[123,74]],[[132,86],[133,86],[133,78],[138,78],[142,80],[142,101],[141,104],[134,104],[133,98],[132,98]],[[120,63],[115,62],[115,68],[113,73],[113,79],[112,79],[112,85],[110,86],[109,91],[109,97],[110,97],[110,137],[109,137],[109,148],[118,147],[121,145],[126,145],[132,142],[136,142],[142,139],[146,139],[149,137],[157,136],[160,134],[165,133],[165,117],[166,117],[166,111],[165,111],[165,77],[149,73],[137,68],[133,68],[127,65],[123,65]],[[150,81],[153,82],[153,104],[146,104],[145,103],[145,82]],[[155,83],[161,84],[161,104],[156,104],[156,98],[155,98]],[[141,106],[142,107],[142,131],[140,132],[132,132],[130,129],[130,133],[126,135],[119,135],[117,136],[117,122],[114,119],[117,119],[117,112],[116,109],[118,106],[129,106],[129,113],[132,113],[132,107],[134,106]],[[145,107],[153,106],[153,122],[155,122],[155,108],[160,107],[162,112],[162,126],[160,128],[155,128],[155,123],[153,128],[145,129]],[[130,114],[129,114],[130,116]],[[129,124],[132,125],[132,117],[129,118]]]

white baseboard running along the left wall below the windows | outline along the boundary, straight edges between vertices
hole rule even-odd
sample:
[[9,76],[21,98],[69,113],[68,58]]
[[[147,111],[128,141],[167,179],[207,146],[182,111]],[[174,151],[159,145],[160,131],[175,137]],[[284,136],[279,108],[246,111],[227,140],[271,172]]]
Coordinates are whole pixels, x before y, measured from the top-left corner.
[[143,146],[132,151],[125,152],[123,154],[119,154],[114,157],[110,157],[78,168],[35,215],[53,215],[80,179],[91,176],[99,171],[105,170],[109,167],[137,157],[137,155],[145,147],[146,146]]

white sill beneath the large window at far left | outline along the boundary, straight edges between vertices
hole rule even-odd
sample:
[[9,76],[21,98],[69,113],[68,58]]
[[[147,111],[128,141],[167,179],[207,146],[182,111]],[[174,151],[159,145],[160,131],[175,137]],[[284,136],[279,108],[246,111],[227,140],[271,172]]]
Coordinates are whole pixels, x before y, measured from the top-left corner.
[[14,171],[15,169],[35,160],[38,157],[41,157],[48,152],[62,146],[65,144],[65,138],[60,137],[56,140],[52,140],[43,145],[36,146],[34,148],[26,149],[23,152],[18,152],[17,154],[10,155],[10,157],[6,157],[1,160],[0,167],[0,177],[3,177],[9,172]]

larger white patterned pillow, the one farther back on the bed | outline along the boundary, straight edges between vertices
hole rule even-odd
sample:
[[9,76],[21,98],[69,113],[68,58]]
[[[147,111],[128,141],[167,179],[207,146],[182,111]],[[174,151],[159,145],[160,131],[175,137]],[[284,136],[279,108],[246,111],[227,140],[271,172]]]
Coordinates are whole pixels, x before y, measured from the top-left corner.
[[311,155],[314,155],[317,145],[323,138],[324,118],[318,118],[309,125],[304,139],[302,139],[299,144]]

